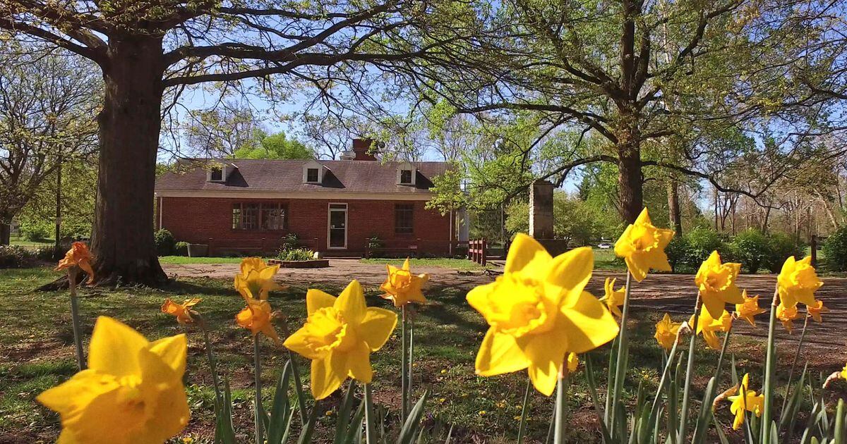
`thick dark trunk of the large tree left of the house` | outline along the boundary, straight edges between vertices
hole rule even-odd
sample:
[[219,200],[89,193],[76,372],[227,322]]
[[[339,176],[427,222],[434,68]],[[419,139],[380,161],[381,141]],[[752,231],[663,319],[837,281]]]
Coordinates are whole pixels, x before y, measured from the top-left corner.
[[97,283],[160,285],[153,244],[153,189],[161,129],[162,39],[109,40],[106,94],[97,117],[100,170],[91,249]]

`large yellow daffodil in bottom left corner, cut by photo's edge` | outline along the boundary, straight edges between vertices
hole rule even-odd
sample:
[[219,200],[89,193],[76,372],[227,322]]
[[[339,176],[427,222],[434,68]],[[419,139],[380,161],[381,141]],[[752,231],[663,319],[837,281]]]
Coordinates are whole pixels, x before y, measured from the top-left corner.
[[88,369],[36,399],[62,419],[60,443],[163,442],[188,424],[185,335],[147,342],[106,316],[91,334]]

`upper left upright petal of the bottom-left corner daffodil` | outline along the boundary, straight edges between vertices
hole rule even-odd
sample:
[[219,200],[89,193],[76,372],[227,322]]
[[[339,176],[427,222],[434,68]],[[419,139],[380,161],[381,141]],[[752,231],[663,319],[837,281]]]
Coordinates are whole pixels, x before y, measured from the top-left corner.
[[136,375],[140,369],[138,353],[147,345],[147,339],[130,326],[100,316],[91,333],[88,368],[115,376]]

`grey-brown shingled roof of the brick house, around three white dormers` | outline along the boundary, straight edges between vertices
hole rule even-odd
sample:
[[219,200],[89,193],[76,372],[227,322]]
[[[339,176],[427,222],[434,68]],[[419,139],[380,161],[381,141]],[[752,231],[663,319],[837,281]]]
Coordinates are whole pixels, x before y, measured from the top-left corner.
[[303,166],[307,160],[236,159],[225,183],[207,182],[206,159],[180,161],[177,172],[164,173],[156,180],[156,190],[225,191],[339,191],[357,193],[427,193],[432,178],[449,169],[446,162],[411,162],[418,168],[415,185],[396,184],[396,169],[402,162],[318,161],[329,171],[322,184],[303,184]]

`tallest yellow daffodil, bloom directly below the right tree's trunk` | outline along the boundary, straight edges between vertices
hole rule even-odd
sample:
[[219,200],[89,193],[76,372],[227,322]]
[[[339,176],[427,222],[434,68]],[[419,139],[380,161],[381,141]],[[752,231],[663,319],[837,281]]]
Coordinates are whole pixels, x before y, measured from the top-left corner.
[[656,228],[650,222],[647,209],[641,211],[635,223],[623,231],[615,243],[615,254],[623,257],[629,273],[638,282],[647,277],[650,268],[671,271],[665,247],[673,238],[673,230]]

